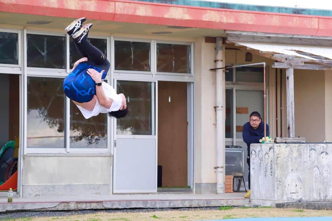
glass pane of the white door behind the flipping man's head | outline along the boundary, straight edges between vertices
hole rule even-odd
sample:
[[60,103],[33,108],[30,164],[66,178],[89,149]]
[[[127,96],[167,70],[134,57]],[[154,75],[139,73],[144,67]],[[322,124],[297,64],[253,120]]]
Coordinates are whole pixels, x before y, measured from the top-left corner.
[[117,81],[117,93],[127,98],[129,112],[117,119],[117,134],[152,135],[152,83]]

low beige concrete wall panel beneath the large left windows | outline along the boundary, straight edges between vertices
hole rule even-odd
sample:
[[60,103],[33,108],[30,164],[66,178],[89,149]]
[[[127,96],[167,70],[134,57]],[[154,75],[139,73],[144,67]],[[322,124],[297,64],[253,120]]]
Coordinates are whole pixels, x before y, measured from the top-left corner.
[[112,156],[24,156],[22,185],[111,186]]

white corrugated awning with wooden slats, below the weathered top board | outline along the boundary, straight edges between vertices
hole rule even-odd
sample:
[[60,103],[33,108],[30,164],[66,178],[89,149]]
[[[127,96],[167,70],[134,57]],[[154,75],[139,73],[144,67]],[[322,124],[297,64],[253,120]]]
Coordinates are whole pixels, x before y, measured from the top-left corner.
[[279,61],[273,64],[275,68],[332,70],[332,47],[234,40],[229,42],[246,47],[246,51]]

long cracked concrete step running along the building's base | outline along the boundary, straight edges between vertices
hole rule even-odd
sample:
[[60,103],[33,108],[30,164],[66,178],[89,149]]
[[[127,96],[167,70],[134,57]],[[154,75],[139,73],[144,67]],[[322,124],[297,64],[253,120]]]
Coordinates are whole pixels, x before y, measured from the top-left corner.
[[117,194],[101,196],[66,196],[0,198],[0,211],[18,210],[80,210],[80,209],[123,209],[123,208],[180,208],[207,206],[248,206],[250,200],[242,198],[243,193],[225,194]]

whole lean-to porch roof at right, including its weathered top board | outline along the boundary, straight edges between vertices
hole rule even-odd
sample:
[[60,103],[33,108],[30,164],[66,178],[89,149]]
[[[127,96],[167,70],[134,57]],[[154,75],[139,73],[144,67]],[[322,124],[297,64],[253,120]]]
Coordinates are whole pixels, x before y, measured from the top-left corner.
[[273,68],[332,70],[330,38],[229,33],[227,42],[233,43],[241,50],[276,60]]

